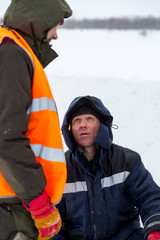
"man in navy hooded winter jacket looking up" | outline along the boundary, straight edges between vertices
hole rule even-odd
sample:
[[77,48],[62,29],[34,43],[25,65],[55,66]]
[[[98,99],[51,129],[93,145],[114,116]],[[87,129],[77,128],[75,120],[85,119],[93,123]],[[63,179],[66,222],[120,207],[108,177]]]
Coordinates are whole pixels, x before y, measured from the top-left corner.
[[137,152],[112,143],[112,121],[92,96],[75,98],[65,114],[68,177],[54,239],[160,239],[160,188]]

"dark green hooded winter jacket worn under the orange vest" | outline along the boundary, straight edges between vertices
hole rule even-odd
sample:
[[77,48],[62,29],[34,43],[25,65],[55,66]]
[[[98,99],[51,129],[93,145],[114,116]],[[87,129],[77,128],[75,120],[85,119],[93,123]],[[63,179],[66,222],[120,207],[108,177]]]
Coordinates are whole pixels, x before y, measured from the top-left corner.
[[[21,33],[33,49],[37,46],[38,53],[44,53],[43,60],[49,62],[53,50],[42,41],[44,32],[71,13],[64,0],[12,0],[4,24]],[[46,48],[51,52],[49,57]],[[5,38],[0,44],[0,172],[17,198],[0,198],[0,204],[22,200],[29,206],[46,186],[42,167],[36,163],[25,135],[33,75],[34,68],[28,54]]]

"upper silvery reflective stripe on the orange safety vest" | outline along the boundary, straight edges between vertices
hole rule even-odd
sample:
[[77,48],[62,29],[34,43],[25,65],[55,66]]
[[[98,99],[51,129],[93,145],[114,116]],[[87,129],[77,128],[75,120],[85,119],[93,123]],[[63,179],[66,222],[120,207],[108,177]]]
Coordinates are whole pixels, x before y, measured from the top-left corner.
[[53,99],[42,97],[42,98],[35,98],[32,100],[31,106],[27,110],[27,114],[31,114],[33,112],[39,112],[42,110],[50,110],[57,112],[57,106]]

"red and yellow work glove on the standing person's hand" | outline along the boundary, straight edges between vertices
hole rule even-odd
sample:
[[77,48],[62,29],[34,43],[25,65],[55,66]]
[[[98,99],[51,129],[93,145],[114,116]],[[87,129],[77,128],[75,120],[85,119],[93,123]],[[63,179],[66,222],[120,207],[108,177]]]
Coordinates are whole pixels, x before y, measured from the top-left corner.
[[36,228],[39,231],[37,240],[48,240],[56,235],[61,228],[61,217],[57,208],[51,204],[49,197],[44,191],[42,195],[30,202],[27,207],[31,213]]

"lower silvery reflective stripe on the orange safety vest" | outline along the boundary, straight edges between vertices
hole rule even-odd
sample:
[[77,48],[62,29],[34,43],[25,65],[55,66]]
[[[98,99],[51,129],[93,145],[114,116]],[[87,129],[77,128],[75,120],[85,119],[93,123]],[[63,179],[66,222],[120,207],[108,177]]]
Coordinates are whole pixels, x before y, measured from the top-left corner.
[[66,162],[63,149],[49,148],[41,144],[30,144],[36,157],[53,162]]

